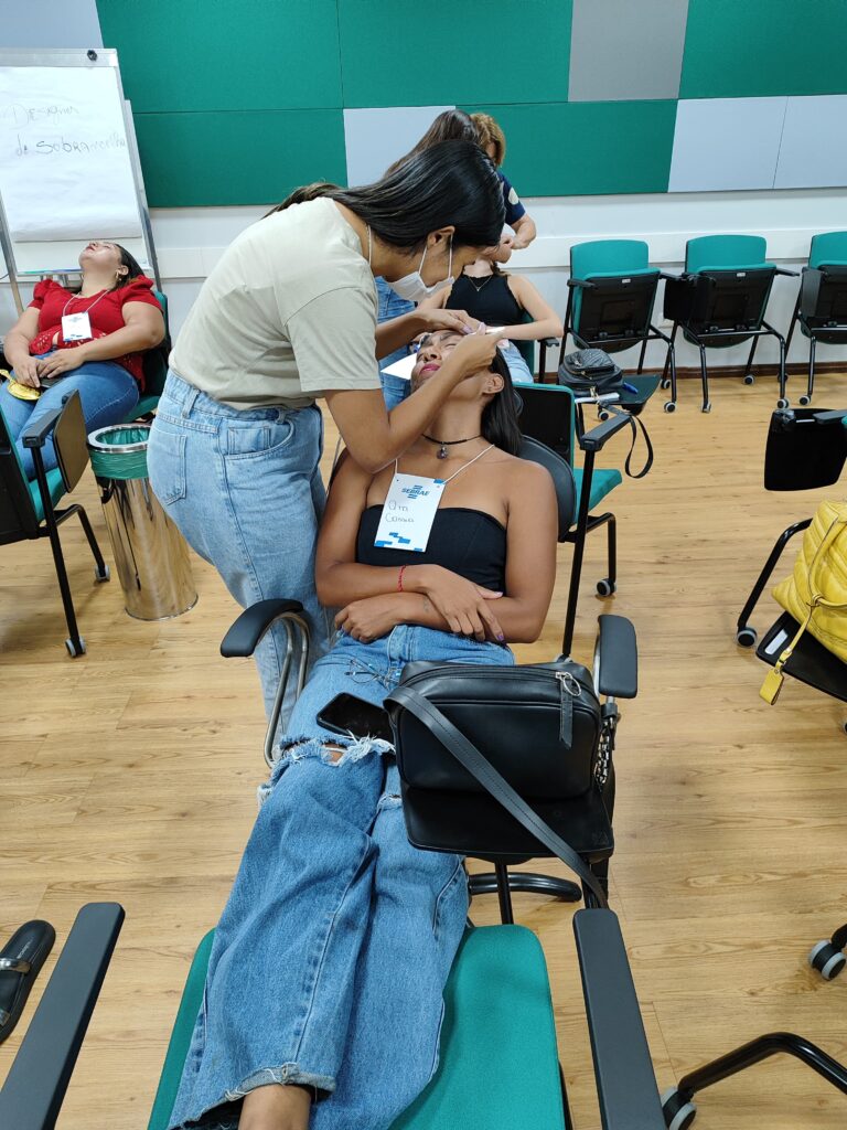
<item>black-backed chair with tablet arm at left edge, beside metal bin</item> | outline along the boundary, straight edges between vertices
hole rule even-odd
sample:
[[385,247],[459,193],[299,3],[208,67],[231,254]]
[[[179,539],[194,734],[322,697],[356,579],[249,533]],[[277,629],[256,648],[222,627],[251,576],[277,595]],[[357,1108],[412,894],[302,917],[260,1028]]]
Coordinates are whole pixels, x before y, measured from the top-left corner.
[[[42,449],[51,434],[59,466],[46,471]],[[50,538],[59,591],[68,623],[68,638],[64,641],[64,646],[71,659],[75,659],[85,653],[86,645],[77,627],[73,598],[62,544],[59,540],[59,527],[62,522],[67,522],[73,514],[78,515],[94,555],[95,581],[98,583],[108,581],[110,576],[108,566],[103,560],[103,554],[85,510],[77,503],[61,510],[56,508],[56,503],[62,496],[79,483],[88,463],[86,426],[79,393],[73,392],[61,408],[26,428],[21,440],[24,446],[33,453],[35,463],[33,481],[24,475],[17,447],[0,410],[0,545]]]

